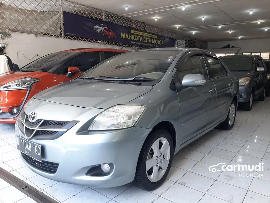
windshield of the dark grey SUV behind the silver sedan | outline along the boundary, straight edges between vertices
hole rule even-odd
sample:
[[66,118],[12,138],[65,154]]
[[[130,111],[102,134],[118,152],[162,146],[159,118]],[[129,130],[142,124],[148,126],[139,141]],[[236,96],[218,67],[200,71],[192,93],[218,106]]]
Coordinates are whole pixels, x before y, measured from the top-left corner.
[[231,71],[250,71],[253,66],[252,58],[222,58]]

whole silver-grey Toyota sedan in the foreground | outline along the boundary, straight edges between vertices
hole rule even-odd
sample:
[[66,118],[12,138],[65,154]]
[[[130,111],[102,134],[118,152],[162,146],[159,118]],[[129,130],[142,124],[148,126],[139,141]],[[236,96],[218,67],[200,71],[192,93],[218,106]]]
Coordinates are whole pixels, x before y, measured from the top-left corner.
[[55,181],[153,190],[181,148],[218,125],[233,127],[238,85],[204,50],[119,54],[30,99],[16,122],[17,148]]

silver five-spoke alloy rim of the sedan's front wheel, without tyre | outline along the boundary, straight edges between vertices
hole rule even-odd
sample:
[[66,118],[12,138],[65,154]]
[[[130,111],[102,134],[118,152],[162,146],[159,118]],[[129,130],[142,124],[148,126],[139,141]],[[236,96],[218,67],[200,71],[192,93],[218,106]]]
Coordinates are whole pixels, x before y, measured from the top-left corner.
[[146,175],[149,181],[158,182],[165,174],[170,160],[170,144],[164,137],[152,144],[146,160]]

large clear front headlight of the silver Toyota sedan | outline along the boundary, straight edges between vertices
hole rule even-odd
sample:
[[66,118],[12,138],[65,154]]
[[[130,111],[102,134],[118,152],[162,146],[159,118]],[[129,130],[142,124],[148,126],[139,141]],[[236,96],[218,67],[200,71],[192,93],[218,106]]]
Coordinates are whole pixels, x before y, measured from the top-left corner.
[[143,105],[117,105],[98,115],[88,130],[114,130],[132,127],[142,115]]

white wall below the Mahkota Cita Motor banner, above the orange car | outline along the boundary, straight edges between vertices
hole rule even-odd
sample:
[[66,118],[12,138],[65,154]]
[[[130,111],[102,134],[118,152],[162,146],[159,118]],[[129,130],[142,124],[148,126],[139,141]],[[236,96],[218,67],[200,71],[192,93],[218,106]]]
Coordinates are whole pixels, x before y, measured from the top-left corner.
[[[104,46],[96,43],[79,42],[76,40],[61,39],[56,37],[44,37],[31,34],[12,32],[12,37],[4,39],[4,43],[8,43],[6,53],[13,63],[19,67],[30,63],[31,61],[52,52],[72,49],[72,48],[119,48],[113,46]],[[123,48],[126,50],[132,50]],[[36,56],[36,55],[39,56]]]

